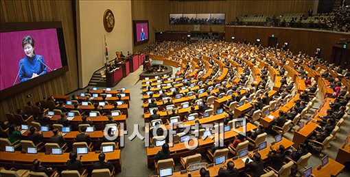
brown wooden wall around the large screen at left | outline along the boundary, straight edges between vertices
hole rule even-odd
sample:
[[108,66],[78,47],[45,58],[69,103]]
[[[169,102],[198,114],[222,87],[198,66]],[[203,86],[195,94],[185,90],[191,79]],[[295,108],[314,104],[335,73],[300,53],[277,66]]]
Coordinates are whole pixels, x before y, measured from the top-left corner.
[[[75,34],[71,1],[1,1],[1,23],[62,21],[69,71],[65,74],[36,85],[0,103],[0,120],[5,120],[5,113],[14,113],[27,101],[34,103],[44,96],[67,94],[78,89],[78,64],[75,49]],[[26,95],[32,98],[27,99]]]

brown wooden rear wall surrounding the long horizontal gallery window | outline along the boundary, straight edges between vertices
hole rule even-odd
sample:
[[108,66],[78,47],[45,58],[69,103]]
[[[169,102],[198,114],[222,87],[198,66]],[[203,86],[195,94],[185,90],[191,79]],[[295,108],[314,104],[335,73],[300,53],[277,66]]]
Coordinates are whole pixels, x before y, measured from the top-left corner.
[[[132,0],[132,20],[150,22],[150,41],[156,31],[193,31],[193,25],[169,25],[171,13],[225,13],[226,23],[246,14],[307,13],[318,0],[250,0],[250,1],[152,1]],[[316,12],[316,10],[314,10]],[[224,25],[201,25],[200,31],[224,32]],[[139,51],[146,44],[134,47]]]

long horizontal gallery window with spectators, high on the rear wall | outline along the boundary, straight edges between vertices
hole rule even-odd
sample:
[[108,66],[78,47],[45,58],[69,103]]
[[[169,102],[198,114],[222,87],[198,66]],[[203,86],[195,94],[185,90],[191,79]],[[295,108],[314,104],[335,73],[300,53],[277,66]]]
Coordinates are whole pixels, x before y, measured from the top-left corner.
[[225,25],[225,14],[170,14],[170,25]]

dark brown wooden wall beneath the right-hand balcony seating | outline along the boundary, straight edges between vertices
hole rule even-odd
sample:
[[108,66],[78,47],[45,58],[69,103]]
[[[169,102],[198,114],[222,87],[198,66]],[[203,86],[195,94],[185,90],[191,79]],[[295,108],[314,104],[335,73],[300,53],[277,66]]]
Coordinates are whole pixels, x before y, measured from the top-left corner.
[[[231,41],[235,36],[235,42],[243,42],[244,38],[254,43],[256,38],[261,38],[261,44],[267,46],[268,36],[275,34],[279,44],[289,43],[289,49],[295,55],[301,51],[307,55],[314,56],[316,48],[321,49],[320,57],[331,60],[333,46],[340,38],[349,38],[350,33],[335,31],[319,31],[315,29],[296,29],[279,27],[235,27],[226,26],[226,41]],[[341,46],[340,46],[341,47]]]

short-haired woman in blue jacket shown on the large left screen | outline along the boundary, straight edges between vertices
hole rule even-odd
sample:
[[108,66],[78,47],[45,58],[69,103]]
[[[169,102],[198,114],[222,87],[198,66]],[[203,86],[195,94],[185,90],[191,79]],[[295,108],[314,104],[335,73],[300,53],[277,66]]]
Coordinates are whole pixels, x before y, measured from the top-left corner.
[[28,81],[47,73],[44,57],[34,53],[34,39],[25,36],[22,46],[26,57],[19,61],[19,82]]

